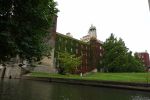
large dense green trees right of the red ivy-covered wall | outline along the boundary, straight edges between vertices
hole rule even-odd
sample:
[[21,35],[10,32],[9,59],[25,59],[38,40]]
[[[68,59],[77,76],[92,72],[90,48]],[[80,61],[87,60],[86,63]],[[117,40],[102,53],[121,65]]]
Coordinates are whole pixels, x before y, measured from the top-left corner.
[[103,44],[104,53],[102,66],[109,72],[139,72],[143,71],[143,64],[132,56],[124,41],[113,34]]

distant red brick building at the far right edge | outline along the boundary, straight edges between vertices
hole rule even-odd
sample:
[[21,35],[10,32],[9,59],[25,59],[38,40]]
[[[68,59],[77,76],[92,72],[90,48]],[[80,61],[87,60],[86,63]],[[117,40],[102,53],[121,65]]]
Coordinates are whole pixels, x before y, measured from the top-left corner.
[[142,62],[144,63],[146,67],[150,67],[150,59],[149,59],[149,54],[147,51],[137,52],[135,54],[142,60]]

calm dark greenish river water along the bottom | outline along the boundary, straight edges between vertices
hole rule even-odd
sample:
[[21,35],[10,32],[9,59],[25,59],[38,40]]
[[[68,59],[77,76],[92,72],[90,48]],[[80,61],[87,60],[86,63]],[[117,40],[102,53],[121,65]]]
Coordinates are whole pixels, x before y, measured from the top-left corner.
[[0,100],[150,100],[150,93],[11,79],[0,81]]

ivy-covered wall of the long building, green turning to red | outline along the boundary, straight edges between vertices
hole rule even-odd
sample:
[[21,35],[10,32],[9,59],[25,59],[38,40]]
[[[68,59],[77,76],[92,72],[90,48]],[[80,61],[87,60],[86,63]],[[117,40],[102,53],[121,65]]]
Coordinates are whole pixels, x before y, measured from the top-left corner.
[[86,43],[57,33],[55,41],[55,61],[57,68],[61,66],[58,61],[59,52],[68,52],[75,54],[77,57],[81,56],[82,63],[78,67],[78,70],[84,73],[98,67],[101,56],[101,44],[97,40]]

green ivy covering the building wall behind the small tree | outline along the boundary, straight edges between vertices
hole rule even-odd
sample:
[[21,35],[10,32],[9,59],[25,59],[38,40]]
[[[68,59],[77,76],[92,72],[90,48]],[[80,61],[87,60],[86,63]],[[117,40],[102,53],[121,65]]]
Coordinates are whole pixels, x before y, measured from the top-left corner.
[[[59,59],[58,59],[59,52],[67,52],[69,54],[75,54],[76,56],[81,56],[81,61],[82,61],[84,59],[84,53],[85,53],[84,49],[87,49],[87,52],[88,52],[87,63],[86,63],[87,69],[91,69],[90,44],[84,43],[72,37],[57,33],[56,41],[55,41],[56,66],[57,67],[61,66],[61,64],[59,63]],[[82,65],[78,67],[77,73],[79,73],[80,71],[82,71]]]

